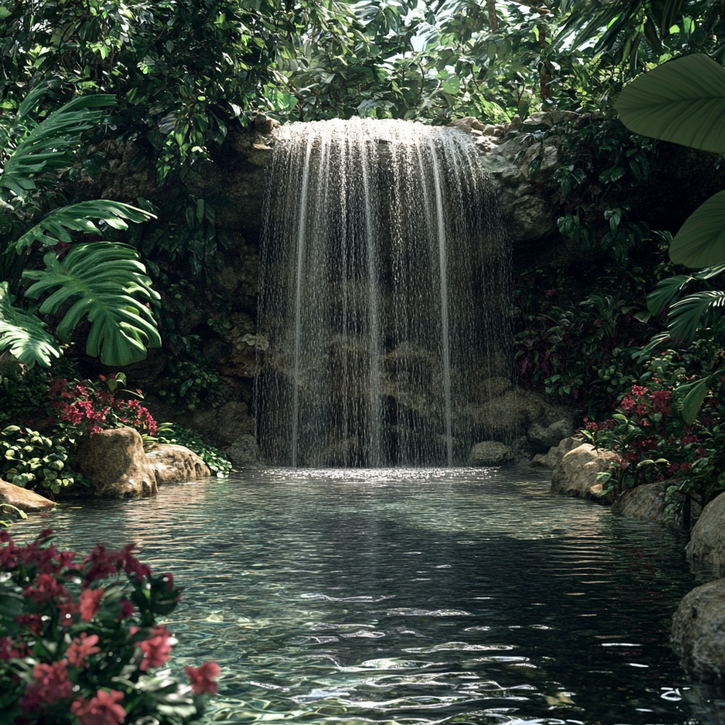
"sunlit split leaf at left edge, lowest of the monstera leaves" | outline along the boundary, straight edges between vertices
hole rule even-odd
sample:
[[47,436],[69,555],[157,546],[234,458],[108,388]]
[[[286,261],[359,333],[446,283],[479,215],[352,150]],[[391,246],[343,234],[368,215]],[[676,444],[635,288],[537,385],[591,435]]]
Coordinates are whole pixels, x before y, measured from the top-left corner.
[[43,322],[14,307],[7,282],[0,282],[0,352],[5,350],[28,368],[36,363],[49,368],[51,360],[60,357],[60,350]]

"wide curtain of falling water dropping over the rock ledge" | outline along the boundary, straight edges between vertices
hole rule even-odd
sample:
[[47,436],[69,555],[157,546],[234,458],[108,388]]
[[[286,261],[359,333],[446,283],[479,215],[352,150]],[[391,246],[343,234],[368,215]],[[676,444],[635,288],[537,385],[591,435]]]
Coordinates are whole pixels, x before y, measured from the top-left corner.
[[270,463],[456,465],[505,440],[510,250],[468,133],[352,118],[276,130],[257,436]]

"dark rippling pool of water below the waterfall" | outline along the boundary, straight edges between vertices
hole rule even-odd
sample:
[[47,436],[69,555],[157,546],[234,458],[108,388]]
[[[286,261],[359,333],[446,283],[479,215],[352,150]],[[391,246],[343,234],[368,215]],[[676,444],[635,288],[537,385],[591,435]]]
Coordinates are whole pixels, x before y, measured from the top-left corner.
[[220,664],[211,720],[700,721],[668,647],[682,535],[543,473],[265,470],[42,523],[174,573],[173,667]]

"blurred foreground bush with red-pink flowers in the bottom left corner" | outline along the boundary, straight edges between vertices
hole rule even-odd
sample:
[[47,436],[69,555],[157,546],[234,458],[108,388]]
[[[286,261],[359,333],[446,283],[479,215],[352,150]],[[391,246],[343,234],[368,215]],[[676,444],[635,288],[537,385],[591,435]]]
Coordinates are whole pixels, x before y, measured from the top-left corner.
[[181,725],[198,720],[220,668],[167,670],[176,640],[156,617],[181,592],[133,544],[86,557],[60,551],[51,531],[17,546],[0,531],[0,721],[14,725]]

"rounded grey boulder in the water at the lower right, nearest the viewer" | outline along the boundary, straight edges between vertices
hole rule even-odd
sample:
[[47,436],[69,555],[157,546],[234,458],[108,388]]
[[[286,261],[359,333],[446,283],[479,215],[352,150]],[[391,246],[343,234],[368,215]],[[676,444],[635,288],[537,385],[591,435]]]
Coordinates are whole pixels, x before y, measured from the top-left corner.
[[704,681],[725,672],[725,579],[685,595],[672,618],[672,648],[682,666]]

